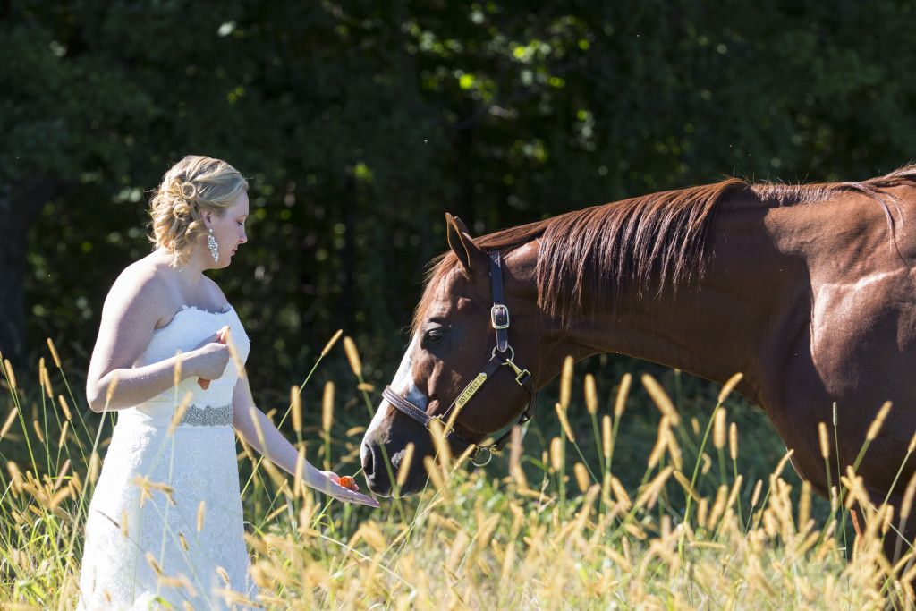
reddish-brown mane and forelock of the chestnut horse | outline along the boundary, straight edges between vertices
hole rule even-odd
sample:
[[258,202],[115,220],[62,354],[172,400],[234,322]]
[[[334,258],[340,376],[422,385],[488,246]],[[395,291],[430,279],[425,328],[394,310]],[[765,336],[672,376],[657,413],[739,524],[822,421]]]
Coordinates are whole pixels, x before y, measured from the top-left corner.
[[[537,266],[538,305],[548,315],[569,320],[583,310],[583,298],[595,306],[636,289],[639,296],[654,289],[659,295],[671,286],[703,277],[706,236],[719,203],[733,197],[781,204],[822,202],[843,192],[876,200],[888,219],[891,244],[894,217],[887,192],[916,181],[916,164],[861,182],[752,184],[730,178],[710,185],[662,191],[621,202],[563,213],[474,238],[474,244],[504,254],[541,240]],[[898,208],[899,212],[899,208]],[[413,317],[413,331],[432,300],[430,287],[458,265],[451,251],[432,259],[423,298]]]

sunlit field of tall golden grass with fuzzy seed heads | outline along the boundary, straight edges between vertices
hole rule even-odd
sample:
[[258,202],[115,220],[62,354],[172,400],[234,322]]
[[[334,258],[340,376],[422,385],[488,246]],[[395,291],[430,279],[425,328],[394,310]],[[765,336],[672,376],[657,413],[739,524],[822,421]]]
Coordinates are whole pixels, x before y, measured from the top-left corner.
[[[355,475],[365,491],[359,442],[377,393],[351,341],[330,342],[322,356],[344,346],[352,372],[322,383],[307,374],[268,415],[312,464]],[[82,380],[68,378],[50,342],[46,354],[34,379],[16,379],[4,360],[0,605],[9,609],[76,606],[82,527],[114,424],[88,409]],[[909,518],[913,486],[898,516],[884,499],[867,499],[852,471],[834,482],[833,502],[812,498],[759,409],[729,385],[707,396],[695,378],[654,371],[631,375],[606,358],[568,363],[542,393],[534,423],[491,464],[474,468],[437,443],[426,491],[379,499],[376,510],[313,493],[239,442],[260,595],[246,602],[225,592],[228,604],[912,606],[911,556],[904,549],[892,565],[881,540]],[[822,433],[824,460],[835,461],[832,423]],[[153,496],[169,491],[166,482],[137,485]],[[846,507],[855,499],[869,509],[854,546]],[[175,583],[163,570],[162,583]]]

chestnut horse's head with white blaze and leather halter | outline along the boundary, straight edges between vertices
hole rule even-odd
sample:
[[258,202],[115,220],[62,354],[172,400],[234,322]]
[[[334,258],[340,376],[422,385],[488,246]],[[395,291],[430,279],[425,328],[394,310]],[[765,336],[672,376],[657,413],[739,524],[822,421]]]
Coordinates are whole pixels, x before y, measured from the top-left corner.
[[[533,409],[536,245],[514,250],[504,266],[498,250],[476,245],[459,219],[446,214],[446,224],[451,251],[431,270],[407,353],[361,447],[366,483],[380,496],[409,496],[426,485],[424,458],[435,453],[431,419],[448,427],[446,439],[462,453]],[[412,460],[405,464],[409,444]]]

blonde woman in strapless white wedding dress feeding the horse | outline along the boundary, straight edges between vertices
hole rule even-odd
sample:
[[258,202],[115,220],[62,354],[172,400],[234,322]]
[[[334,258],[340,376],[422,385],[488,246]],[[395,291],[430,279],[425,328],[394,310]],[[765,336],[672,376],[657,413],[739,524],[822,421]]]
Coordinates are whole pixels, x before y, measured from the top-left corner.
[[[252,405],[218,333],[229,328],[242,362],[248,337],[203,274],[228,266],[247,241],[247,189],[224,161],[181,159],[151,202],[156,249],[127,267],[105,300],[86,397],[93,411],[118,418],[86,521],[82,609],[256,601],[234,431],[290,474],[299,454]],[[378,507],[311,464],[302,480]]]

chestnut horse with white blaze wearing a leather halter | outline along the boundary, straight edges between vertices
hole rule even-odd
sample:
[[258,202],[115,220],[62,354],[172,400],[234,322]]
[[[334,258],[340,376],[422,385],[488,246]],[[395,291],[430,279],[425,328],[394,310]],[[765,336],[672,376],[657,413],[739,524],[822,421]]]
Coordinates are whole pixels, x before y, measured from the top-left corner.
[[[743,374],[736,391],[767,412],[824,498],[890,401],[856,475],[900,516],[916,472],[914,221],[916,165],[859,182],[732,178],[477,238],[446,214],[450,250],[431,263],[361,445],[369,490],[425,486],[432,419],[455,451],[496,451],[506,434],[476,444],[526,420],[567,355],[619,353],[720,384]],[[828,461],[820,423],[835,435]]]

